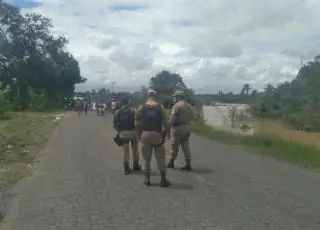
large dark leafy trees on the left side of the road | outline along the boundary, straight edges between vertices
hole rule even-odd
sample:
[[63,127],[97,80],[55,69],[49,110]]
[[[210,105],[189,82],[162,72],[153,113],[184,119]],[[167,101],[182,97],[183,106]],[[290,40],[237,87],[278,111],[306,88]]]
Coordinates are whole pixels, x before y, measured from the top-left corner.
[[61,106],[86,81],[68,40],[52,27],[50,19],[0,0],[0,112]]

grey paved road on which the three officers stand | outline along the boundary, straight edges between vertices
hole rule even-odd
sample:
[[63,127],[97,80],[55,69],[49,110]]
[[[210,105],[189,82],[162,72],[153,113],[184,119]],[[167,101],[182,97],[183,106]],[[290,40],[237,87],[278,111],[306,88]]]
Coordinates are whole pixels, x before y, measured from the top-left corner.
[[144,188],[141,174],[123,175],[113,134],[109,118],[67,116],[3,229],[320,229],[317,173],[194,136],[195,172]]

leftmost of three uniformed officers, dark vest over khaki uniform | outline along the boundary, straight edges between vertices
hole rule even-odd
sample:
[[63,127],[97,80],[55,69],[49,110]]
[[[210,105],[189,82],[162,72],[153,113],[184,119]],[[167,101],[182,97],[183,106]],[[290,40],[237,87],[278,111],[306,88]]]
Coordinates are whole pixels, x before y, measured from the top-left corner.
[[132,157],[133,157],[133,171],[140,171],[139,165],[139,152],[138,152],[138,140],[135,130],[135,110],[129,106],[130,99],[124,97],[121,100],[121,107],[115,112],[113,118],[113,127],[119,133],[119,136],[123,144],[123,165],[124,173],[128,175],[132,173],[129,167],[129,144],[131,144]]

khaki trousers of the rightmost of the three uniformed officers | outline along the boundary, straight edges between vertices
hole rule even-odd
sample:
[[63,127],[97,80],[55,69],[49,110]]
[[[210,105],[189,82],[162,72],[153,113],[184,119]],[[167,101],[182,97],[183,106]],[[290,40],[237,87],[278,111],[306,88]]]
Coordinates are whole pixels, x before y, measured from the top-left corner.
[[171,130],[171,152],[170,160],[175,160],[178,156],[179,148],[181,146],[184,158],[186,160],[191,159],[191,151],[189,145],[189,139],[191,132],[189,129],[175,129]]

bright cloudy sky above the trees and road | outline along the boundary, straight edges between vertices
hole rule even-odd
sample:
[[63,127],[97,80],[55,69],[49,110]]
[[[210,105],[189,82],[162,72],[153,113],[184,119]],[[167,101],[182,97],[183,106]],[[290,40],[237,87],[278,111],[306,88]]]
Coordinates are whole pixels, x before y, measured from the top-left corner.
[[6,0],[52,19],[88,78],[138,90],[161,70],[198,93],[292,80],[320,54],[319,0]]

